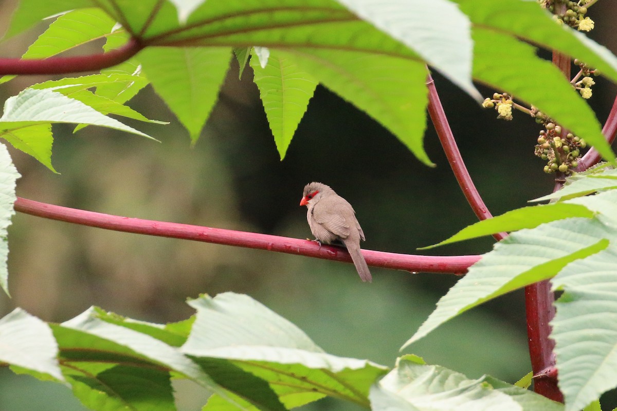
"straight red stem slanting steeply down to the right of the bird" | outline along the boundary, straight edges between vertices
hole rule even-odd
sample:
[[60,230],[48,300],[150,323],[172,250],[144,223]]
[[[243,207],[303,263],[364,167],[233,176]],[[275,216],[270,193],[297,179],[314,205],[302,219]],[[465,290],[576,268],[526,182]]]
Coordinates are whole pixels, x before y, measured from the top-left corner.
[[[469,202],[471,209],[478,216],[479,220],[491,218],[491,212],[489,212],[488,207],[484,204],[484,200],[482,200],[482,197],[478,193],[478,189],[476,189],[473,180],[471,180],[471,175],[465,167],[463,157],[460,151],[458,151],[457,142],[454,139],[452,129],[448,123],[448,118],[445,115],[444,107],[439,100],[435,82],[430,74],[426,79],[426,86],[428,87],[428,112],[435,126],[435,130],[437,131],[439,141],[441,141],[441,145],[444,147],[445,156],[450,163],[450,167],[452,167],[454,176],[457,178],[458,185],[463,190],[467,202]],[[507,236],[507,233],[495,233],[493,235],[497,241]]]

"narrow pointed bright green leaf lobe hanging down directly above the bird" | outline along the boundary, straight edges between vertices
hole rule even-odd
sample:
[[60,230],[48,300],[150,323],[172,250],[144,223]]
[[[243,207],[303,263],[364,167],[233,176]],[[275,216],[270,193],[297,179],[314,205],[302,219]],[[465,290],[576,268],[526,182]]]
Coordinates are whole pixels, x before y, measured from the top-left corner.
[[309,73],[302,72],[292,60],[278,54],[271,53],[265,68],[252,58],[251,67],[276,148],[283,160],[317,81]]

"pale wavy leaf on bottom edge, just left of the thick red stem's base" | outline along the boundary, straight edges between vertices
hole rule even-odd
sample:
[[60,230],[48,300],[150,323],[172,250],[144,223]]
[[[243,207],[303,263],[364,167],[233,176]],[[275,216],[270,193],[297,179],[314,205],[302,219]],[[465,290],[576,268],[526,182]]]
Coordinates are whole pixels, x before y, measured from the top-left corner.
[[399,359],[397,367],[371,388],[371,409],[408,411],[547,410],[563,405],[490,376],[471,380],[439,365]]

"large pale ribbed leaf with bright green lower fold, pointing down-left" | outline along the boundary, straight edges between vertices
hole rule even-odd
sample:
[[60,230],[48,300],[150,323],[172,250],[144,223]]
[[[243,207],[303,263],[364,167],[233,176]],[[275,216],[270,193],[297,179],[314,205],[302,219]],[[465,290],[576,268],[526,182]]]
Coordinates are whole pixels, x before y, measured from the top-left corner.
[[594,218],[567,218],[536,228],[521,230],[495,244],[467,275],[450,288],[437,303],[437,309],[405,342],[403,347],[422,338],[450,318],[482,302],[517,288],[556,275],[566,264],[605,249],[617,241],[610,215],[617,214],[617,191],[568,202],[582,204]]

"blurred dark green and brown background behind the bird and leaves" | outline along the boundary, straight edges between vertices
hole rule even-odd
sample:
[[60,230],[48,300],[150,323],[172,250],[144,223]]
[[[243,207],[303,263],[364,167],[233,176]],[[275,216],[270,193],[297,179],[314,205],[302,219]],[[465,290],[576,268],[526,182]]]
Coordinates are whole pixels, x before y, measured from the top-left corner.
[[[0,2],[6,27],[14,1]],[[609,30],[615,6],[598,2],[590,36],[617,51]],[[0,44],[2,56],[25,51],[40,29]],[[89,52],[96,52],[91,48]],[[549,54],[544,53],[545,56]],[[498,60],[498,59],[497,59]],[[532,73],[521,73],[532,77]],[[539,128],[526,115],[496,120],[434,73],[463,158],[493,214],[526,205],[552,191],[552,179],[533,156]],[[2,101],[46,78],[23,77],[2,85]],[[603,121],[615,86],[596,80],[591,104]],[[481,88],[486,96],[493,90]],[[436,168],[421,165],[390,133],[327,89],[318,87],[286,158],[278,158],[259,93],[247,67],[238,80],[231,61],[220,99],[201,139],[186,131],[151,88],[130,106],[170,125],[127,122],[161,143],[88,127],[54,126],[54,167],[12,150],[22,178],[19,196],[128,217],[310,237],[298,203],[310,181],[332,186],[357,212],[363,247],[419,253],[476,217],[466,204],[433,126],[426,150]],[[273,252],[117,233],[17,214],[9,229],[10,291],[0,314],[22,307],[43,320],[62,322],[90,305],[152,322],[184,319],[184,303],[200,293],[246,293],[305,330],[326,351],[394,365],[399,347],[455,283],[453,275],[371,268],[361,283],[353,265]],[[490,238],[431,250],[481,254]],[[515,382],[529,372],[522,291],[512,293],[429,334],[405,352],[476,378],[489,373]],[[179,383],[181,410],[199,410],[207,393]],[[83,409],[64,386],[0,370],[3,411]],[[611,407],[614,407],[612,404]],[[354,409],[323,400],[313,409]]]

